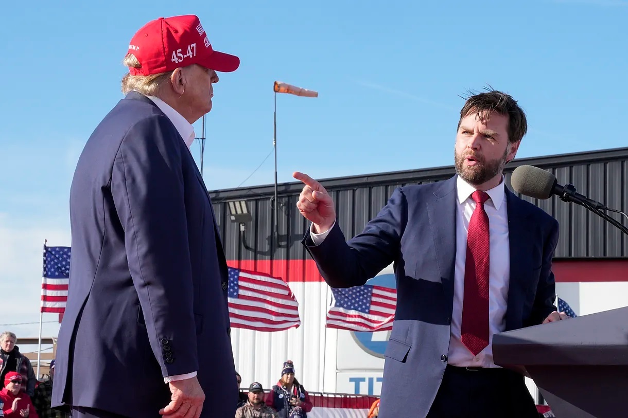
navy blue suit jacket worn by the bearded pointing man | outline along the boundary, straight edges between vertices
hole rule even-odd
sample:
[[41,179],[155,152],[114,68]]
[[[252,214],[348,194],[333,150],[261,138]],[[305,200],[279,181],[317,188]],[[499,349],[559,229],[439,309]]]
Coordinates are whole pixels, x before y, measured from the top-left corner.
[[[506,330],[555,311],[551,259],[558,222],[506,190],[510,284]],[[332,287],[361,286],[394,262],[397,309],[386,347],[379,418],[425,417],[447,365],[456,256],[456,177],[397,188],[364,231],[345,242],[336,224],[303,244]],[[416,411],[416,412],[414,412]]]

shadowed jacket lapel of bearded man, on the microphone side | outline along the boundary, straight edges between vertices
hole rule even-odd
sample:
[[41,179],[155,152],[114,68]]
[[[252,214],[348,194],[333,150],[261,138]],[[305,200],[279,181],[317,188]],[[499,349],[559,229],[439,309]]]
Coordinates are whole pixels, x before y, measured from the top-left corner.
[[516,327],[516,312],[513,307],[522,306],[524,295],[521,289],[525,287],[528,272],[532,268],[529,249],[531,246],[530,225],[524,222],[529,213],[522,201],[510,190],[506,189],[506,201],[508,205],[508,240],[510,244],[510,277],[508,285],[508,301],[506,308],[506,330]]

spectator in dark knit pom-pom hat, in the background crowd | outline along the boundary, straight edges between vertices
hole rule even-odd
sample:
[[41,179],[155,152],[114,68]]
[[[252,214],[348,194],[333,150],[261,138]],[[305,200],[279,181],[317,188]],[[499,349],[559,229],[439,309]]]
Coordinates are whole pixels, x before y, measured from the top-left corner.
[[300,418],[306,418],[307,413],[311,411],[310,395],[303,388],[303,385],[296,380],[295,365],[291,360],[283,363],[281,379],[266,397],[266,405],[274,408],[279,418],[291,418],[291,414],[297,408],[300,409],[301,415],[295,416]]

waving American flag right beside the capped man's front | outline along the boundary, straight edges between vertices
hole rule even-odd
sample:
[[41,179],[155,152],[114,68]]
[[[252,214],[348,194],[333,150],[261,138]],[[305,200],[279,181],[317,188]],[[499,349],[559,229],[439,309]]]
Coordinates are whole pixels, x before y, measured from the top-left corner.
[[272,332],[301,324],[299,304],[282,279],[229,267],[227,294],[233,328]]

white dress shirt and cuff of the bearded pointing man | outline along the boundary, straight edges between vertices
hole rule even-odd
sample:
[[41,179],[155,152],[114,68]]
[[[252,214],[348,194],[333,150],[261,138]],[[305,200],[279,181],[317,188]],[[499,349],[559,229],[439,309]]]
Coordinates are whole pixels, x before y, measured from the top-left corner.
[[[458,176],[456,181],[456,260],[453,284],[452,336],[450,339],[447,363],[460,367],[499,367],[493,362],[490,341],[496,333],[506,329],[506,302],[510,278],[510,244],[508,233],[508,211],[506,203],[505,179],[494,188],[487,190],[490,199],[484,204],[490,225],[490,278],[489,278],[489,345],[474,356],[460,340],[462,325],[462,305],[465,289],[465,261],[467,259],[467,231],[469,220],[475,210],[471,198],[476,190]],[[335,224],[335,223],[334,223]],[[333,225],[332,225],[333,228]],[[318,245],[332,228],[310,236]]]

